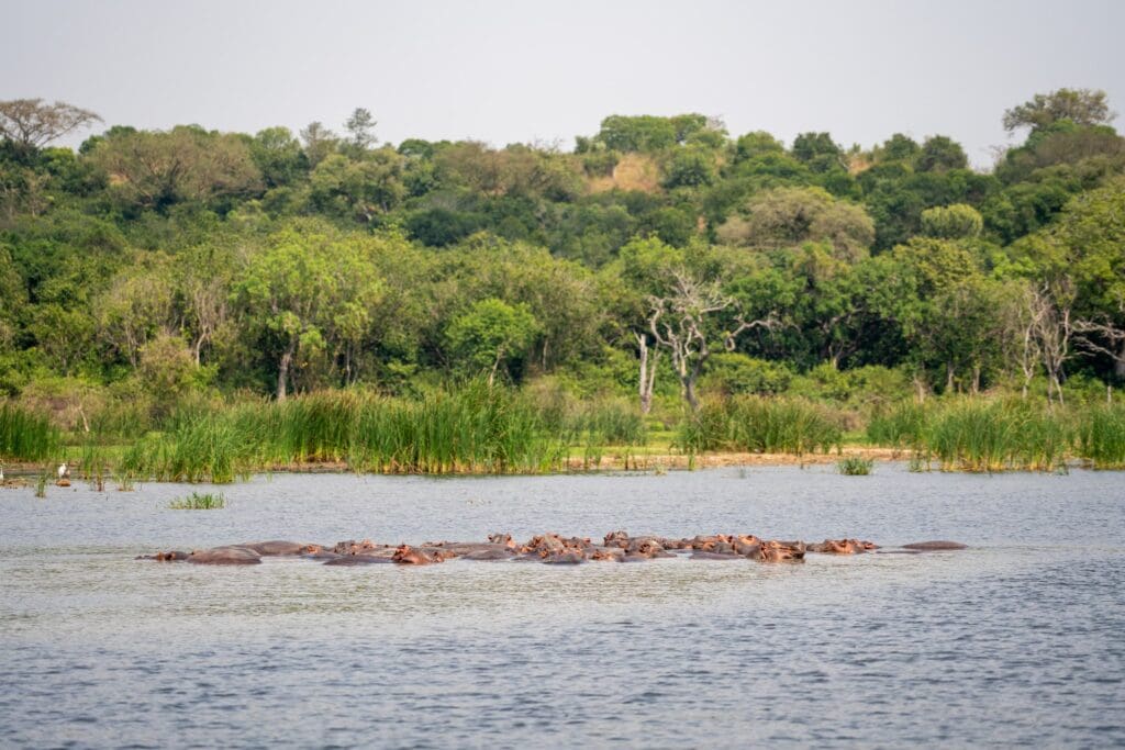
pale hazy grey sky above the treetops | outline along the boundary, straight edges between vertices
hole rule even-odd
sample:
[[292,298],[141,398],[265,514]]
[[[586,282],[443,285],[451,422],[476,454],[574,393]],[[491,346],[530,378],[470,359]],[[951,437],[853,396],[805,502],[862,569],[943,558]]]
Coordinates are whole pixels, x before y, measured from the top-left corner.
[[569,150],[606,115],[699,111],[786,142],[940,133],[988,164],[1004,110],[1035,92],[1104,89],[1125,111],[1119,0],[0,0],[0,99],[62,99],[144,128],[339,130],[366,107],[381,141]]

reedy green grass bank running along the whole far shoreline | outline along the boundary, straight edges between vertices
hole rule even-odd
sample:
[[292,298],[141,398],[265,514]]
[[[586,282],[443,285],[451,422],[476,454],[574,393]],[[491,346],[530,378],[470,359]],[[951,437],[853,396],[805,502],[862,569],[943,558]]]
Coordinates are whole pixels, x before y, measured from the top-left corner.
[[567,401],[471,385],[413,399],[322,391],[286,401],[195,403],[155,430],[96,426],[66,440],[48,417],[0,405],[0,461],[43,467],[65,459],[96,486],[122,488],[316,467],[446,475],[714,464],[709,455],[730,459],[720,463],[763,455],[807,462],[861,446],[867,459],[890,451],[955,471],[1051,471],[1068,461],[1125,469],[1125,406],[1051,409],[962,397],[863,410],[738,396],[706,400],[694,414],[642,417],[621,398]]

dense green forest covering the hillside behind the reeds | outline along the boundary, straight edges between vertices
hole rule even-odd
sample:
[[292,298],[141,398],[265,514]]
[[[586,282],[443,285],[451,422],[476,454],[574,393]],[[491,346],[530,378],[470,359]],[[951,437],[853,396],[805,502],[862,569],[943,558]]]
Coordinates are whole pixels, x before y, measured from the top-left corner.
[[[0,102],[0,392],[169,413],[461,378],[582,396],[1044,391],[1125,378],[1125,139],[1105,94],[944,135],[789,145],[612,116],[573,152],[114,126]],[[1070,386],[1064,383],[1070,380]],[[814,392],[813,392],[814,391]],[[89,426],[88,424],[86,425]]]

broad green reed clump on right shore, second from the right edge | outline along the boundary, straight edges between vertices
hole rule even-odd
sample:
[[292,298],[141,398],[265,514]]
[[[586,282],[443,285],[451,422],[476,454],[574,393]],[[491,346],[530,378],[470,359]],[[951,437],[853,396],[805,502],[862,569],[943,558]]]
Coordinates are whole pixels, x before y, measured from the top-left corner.
[[1065,464],[1069,422],[1027,401],[965,399],[943,405],[922,442],[943,470],[1052,471]]

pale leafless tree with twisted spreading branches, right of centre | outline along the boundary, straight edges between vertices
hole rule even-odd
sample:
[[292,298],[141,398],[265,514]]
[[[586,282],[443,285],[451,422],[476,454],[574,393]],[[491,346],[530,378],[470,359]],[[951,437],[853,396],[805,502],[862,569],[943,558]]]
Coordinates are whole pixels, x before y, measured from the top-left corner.
[[[693,412],[699,408],[695,383],[711,356],[708,319],[734,306],[735,299],[723,295],[717,282],[700,281],[684,271],[673,273],[670,295],[649,297],[649,329],[656,342],[672,353],[672,365],[680,378],[681,390]],[[735,319],[738,325],[734,331],[722,334],[722,345],[727,351],[735,350],[736,340],[742,332],[750,328],[772,329],[777,325],[773,315],[756,320],[746,320],[737,315]]]

